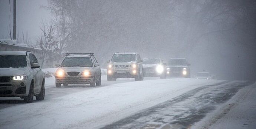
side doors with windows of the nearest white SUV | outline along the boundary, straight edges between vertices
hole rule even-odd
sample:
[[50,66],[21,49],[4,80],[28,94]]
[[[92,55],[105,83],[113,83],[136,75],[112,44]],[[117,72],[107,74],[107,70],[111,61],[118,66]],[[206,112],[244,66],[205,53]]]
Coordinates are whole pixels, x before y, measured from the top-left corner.
[[33,63],[38,63],[38,60],[36,59],[36,56],[32,53],[29,54],[30,58],[30,65],[32,69],[33,79],[34,79],[34,93],[39,93],[41,88],[41,81],[42,81],[42,70],[41,68],[32,68]]

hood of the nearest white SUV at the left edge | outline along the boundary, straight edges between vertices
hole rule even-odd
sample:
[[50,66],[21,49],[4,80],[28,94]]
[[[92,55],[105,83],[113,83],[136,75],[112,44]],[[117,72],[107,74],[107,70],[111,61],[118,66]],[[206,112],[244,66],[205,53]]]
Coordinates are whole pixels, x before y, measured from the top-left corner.
[[0,68],[0,76],[19,76],[26,73],[29,68]]

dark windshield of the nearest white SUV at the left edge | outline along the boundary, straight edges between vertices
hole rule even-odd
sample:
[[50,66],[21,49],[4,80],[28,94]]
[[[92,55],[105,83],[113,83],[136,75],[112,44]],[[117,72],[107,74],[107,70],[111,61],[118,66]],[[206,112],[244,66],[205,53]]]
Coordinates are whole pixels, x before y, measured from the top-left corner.
[[27,67],[27,58],[23,55],[0,55],[0,68]]

